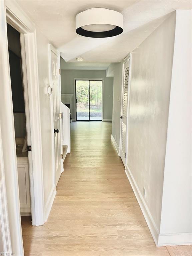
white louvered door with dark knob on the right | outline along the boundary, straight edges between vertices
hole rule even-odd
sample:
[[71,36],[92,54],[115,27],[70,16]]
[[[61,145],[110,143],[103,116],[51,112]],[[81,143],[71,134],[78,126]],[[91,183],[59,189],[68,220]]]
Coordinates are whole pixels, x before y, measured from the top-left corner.
[[123,92],[122,92],[122,116],[121,116],[121,159],[125,165],[126,158],[126,129],[127,129],[127,103],[128,103],[129,60],[124,64]]

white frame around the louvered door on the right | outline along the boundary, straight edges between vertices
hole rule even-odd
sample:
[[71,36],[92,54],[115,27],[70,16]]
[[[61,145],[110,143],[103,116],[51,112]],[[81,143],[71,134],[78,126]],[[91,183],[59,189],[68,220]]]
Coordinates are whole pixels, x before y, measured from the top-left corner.
[[[129,103],[130,103],[130,86],[131,86],[131,61],[132,54],[129,53],[123,60],[122,65],[122,82],[121,82],[121,112],[120,116],[123,114],[123,86],[124,86],[124,66],[125,63],[129,60],[129,81],[128,81],[128,99],[127,99],[127,123],[126,123],[126,157],[125,157],[125,166],[128,159],[128,128],[129,128]],[[121,134],[122,134],[122,119],[120,121],[120,133],[119,133],[119,156],[121,156]]]

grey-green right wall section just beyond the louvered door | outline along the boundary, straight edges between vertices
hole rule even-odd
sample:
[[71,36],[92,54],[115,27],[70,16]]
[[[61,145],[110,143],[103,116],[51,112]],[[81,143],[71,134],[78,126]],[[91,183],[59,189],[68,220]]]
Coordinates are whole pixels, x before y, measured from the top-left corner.
[[107,77],[113,77],[113,122],[112,135],[119,147],[122,63],[111,63],[106,70]]

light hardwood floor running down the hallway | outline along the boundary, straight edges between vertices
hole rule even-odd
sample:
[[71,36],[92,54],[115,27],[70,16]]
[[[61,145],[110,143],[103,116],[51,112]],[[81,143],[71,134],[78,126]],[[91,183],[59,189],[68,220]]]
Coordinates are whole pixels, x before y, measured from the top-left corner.
[[121,159],[111,123],[71,125],[71,154],[44,226],[22,217],[25,256],[191,256],[191,246],[156,247]]

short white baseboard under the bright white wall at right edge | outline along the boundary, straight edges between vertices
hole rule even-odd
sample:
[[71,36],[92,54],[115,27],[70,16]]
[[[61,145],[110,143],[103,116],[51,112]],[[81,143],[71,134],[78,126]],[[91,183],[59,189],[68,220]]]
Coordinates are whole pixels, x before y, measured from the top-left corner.
[[192,233],[159,234],[157,246],[192,245]]

